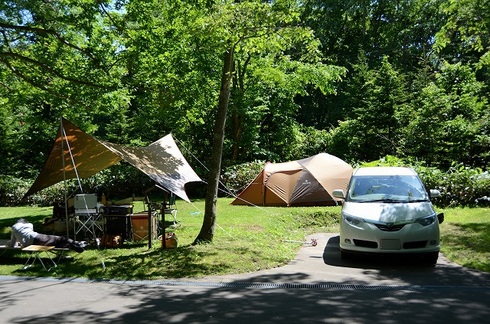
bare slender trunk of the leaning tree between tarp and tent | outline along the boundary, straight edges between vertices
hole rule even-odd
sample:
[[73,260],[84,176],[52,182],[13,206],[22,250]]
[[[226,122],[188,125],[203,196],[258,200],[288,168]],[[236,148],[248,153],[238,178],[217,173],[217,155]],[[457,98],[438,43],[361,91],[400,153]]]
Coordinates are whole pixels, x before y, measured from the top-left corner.
[[204,220],[199,235],[193,244],[211,242],[214,237],[216,223],[216,203],[218,201],[218,186],[221,174],[221,157],[223,155],[223,142],[225,137],[226,114],[230,101],[230,84],[233,78],[233,47],[224,55],[223,74],[218,101],[218,111],[213,129],[213,150],[209,164],[208,184],[206,188],[206,201],[204,207]]

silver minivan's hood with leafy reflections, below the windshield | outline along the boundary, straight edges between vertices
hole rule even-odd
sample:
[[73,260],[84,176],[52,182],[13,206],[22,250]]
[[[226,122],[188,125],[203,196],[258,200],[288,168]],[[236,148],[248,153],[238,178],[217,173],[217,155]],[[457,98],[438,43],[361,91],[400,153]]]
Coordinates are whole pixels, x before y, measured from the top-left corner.
[[412,203],[344,202],[342,212],[365,221],[383,223],[411,222],[435,213],[429,201]]

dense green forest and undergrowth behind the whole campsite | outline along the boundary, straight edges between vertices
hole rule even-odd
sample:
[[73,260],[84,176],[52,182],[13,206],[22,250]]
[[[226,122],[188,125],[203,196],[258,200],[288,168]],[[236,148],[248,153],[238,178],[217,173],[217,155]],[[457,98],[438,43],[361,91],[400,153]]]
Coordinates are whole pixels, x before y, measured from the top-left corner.
[[[230,48],[226,187],[327,152],[415,166],[444,205],[488,203],[489,0],[6,0],[0,205],[25,203],[61,116],[114,143],[172,133],[206,179]],[[84,180],[109,197],[151,186],[125,164]]]

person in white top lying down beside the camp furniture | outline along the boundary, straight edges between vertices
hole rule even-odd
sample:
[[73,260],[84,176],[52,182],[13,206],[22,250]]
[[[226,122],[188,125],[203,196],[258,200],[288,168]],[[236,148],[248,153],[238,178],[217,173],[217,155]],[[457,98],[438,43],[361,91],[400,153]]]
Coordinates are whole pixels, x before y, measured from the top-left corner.
[[17,242],[22,247],[29,245],[45,245],[57,248],[70,248],[78,253],[84,251],[84,244],[70,238],[58,235],[46,235],[34,231],[34,226],[23,218],[17,220],[12,226],[12,236],[6,245],[15,247]]

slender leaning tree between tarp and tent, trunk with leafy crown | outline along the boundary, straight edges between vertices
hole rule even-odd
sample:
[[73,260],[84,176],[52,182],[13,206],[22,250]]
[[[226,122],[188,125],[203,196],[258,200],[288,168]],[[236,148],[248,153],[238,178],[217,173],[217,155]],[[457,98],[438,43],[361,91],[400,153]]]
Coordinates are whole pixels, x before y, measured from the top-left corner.
[[[247,55],[252,53],[258,54],[259,57],[270,57],[271,50],[274,53],[290,50],[290,47],[296,44],[293,41],[294,39],[302,39],[306,47],[314,47],[316,44],[314,39],[308,38],[311,35],[309,30],[296,24],[299,17],[299,7],[296,7],[295,1],[285,0],[270,3],[262,1],[236,3],[232,1],[224,6],[218,5],[214,10],[215,14],[210,16],[209,23],[217,23],[215,29],[218,31],[217,35],[228,46],[223,56],[221,88],[214,124],[213,151],[210,159],[204,221],[195,243],[210,242],[214,237],[225,123],[232,80],[236,75],[237,61],[235,57],[238,55],[247,57]],[[291,38],[291,35],[299,35],[299,37]],[[331,87],[332,80],[338,79],[341,74],[341,70],[328,69],[327,71],[323,65],[317,65],[315,68],[309,65],[300,65],[298,67],[299,62],[301,62],[301,58],[290,60],[289,64],[291,73],[302,72],[302,75],[297,77],[295,81],[316,84],[324,91]],[[244,72],[244,68],[245,66],[241,66],[242,72]],[[272,69],[269,66],[268,71],[277,73],[279,70]],[[315,71],[317,75],[315,75]],[[327,75],[327,73],[331,73],[331,75]],[[326,78],[320,80],[318,75]],[[240,77],[242,78],[240,81],[243,82],[244,73],[240,74]],[[297,90],[289,93],[289,95],[294,96],[296,93]]]

